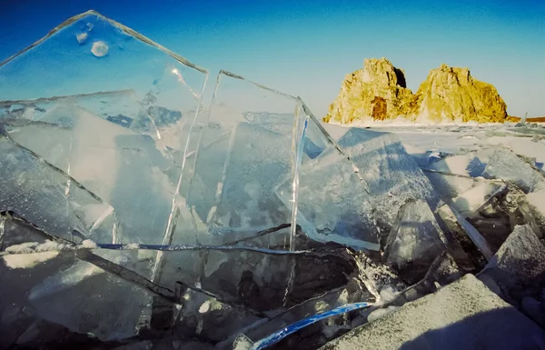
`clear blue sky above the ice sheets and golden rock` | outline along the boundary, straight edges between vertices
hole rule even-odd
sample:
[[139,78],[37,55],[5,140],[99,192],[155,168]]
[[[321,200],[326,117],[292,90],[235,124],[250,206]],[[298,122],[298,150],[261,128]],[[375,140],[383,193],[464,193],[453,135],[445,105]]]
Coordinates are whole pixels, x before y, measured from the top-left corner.
[[467,66],[510,115],[545,115],[545,0],[0,0],[0,61],[89,9],[206,67],[209,84],[226,69],[319,116],[344,75],[382,56],[413,92],[441,63]]

